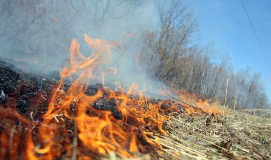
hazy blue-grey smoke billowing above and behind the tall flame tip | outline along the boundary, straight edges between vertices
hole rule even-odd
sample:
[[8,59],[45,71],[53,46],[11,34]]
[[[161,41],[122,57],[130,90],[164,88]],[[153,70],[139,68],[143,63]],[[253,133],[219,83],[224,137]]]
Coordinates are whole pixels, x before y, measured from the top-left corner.
[[[105,81],[122,85],[132,82],[157,92],[146,71],[135,63],[141,51],[141,35],[155,31],[159,16],[152,2],[144,0],[2,0],[0,2],[0,57],[27,72],[60,72],[69,59],[72,38],[88,56],[89,37],[121,41],[123,53],[113,55],[111,67],[119,76],[106,75]],[[125,36],[130,35],[130,36]],[[119,56],[122,54],[121,56]],[[144,54],[144,53],[142,53]]]

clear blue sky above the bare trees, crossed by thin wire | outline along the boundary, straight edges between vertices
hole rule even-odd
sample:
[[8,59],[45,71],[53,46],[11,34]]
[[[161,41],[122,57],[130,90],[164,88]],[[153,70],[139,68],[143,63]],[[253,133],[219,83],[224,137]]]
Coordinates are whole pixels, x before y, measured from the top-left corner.
[[244,6],[265,52],[260,48],[241,0],[184,0],[194,8],[200,23],[201,43],[212,42],[220,53],[230,46],[235,69],[249,67],[259,72],[271,101],[271,0],[243,0]]

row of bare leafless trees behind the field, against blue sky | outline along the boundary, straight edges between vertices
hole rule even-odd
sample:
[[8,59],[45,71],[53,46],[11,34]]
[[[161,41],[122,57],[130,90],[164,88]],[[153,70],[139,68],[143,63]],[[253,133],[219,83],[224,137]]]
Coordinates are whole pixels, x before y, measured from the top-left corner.
[[179,0],[160,1],[157,8],[159,29],[143,33],[141,60],[150,74],[199,98],[226,101],[232,108],[270,106],[258,73],[244,69],[235,74],[229,56],[214,62],[212,46],[197,43],[198,23],[192,9]]

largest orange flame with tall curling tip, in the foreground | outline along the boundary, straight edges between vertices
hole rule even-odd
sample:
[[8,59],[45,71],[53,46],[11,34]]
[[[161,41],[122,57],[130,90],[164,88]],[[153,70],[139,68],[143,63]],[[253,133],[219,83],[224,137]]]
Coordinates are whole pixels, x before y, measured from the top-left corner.
[[[167,133],[163,128],[163,122],[169,120],[169,117],[163,113],[173,108],[161,110],[161,104],[149,102],[143,95],[144,90],[139,90],[138,84],[135,83],[127,90],[118,85],[115,90],[105,87],[98,89],[94,95],[86,94],[92,78],[100,76],[101,84],[104,85],[105,74],[116,74],[116,68],[107,67],[107,70],[104,70],[103,65],[111,63],[112,48],[119,49],[120,46],[114,41],[93,39],[86,34],[84,36],[93,51],[90,56],[84,56],[80,52],[79,43],[75,39],[72,40],[70,64],[61,71],[59,86],[52,95],[48,111],[43,115],[44,120],[38,130],[38,138],[44,143],[35,150],[36,153],[46,158],[60,156],[61,150],[57,144],[61,142],[56,137],[63,137],[64,143],[71,143],[68,137],[69,128],[65,127],[67,120],[72,121],[74,127],[78,129],[78,135],[74,136],[78,136],[80,145],[84,146],[88,154],[92,153],[90,157],[93,153],[104,155],[111,151],[118,151],[127,157],[134,156],[134,152],[152,151],[141,141],[155,145],[150,139],[153,131]],[[72,85],[64,91],[66,78],[70,79]],[[113,109],[120,113],[117,115],[118,118],[114,115],[117,113],[112,110],[100,110],[93,106],[99,99],[105,98],[105,94],[106,100],[115,103]],[[61,130],[59,126],[62,126]],[[65,150],[71,148],[67,147]],[[77,154],[81,155],[80,152]]]

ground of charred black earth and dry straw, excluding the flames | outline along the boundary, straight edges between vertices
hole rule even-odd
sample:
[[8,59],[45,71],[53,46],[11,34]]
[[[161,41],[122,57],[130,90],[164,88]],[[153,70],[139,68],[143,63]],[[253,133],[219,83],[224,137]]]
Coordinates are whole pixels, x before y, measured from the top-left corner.
[[[0,117],[0,123],[2,124],[0,125],[0,153],[3,153],[2,155],[0,154],[0,159],[15,156],[22,158],[26,156],[24,155],[25,147],[21,145],[23,144],[21,143],[22,141],[28,142],[28,139],[36,140],[33,142],[32,150],[35,150],[37,146],[40,147],[43,143],[47,143],[35,137],[40,137],[36,136],[36,134],[38,134],[39,128],[43,128],[44,126],[42,123],[44,122],[43,114],[46,113],[48,109],[48,99],[52,96],[52,91],[57,88],[55,87],[57,86],[57,82],[54,80],[48,80],[46,77],[26,74],[10,68],[13,68],[13,66],[7,65],[6,63],[2,63],[0,67],[0,112],[2,114]],[[69,83],[63,85],[63,94],[67,92],[70,85]],[[99,87],[98,85],[89,87],[85,94],[95,95]],[[114,120],[114,123],[120,122],[122,120],[122,114],[120,110],[116,109],[115,105],[116,103],[120,104],[121,100],[108,99],[106,97],[109,96],[109,92],[104,92],[101,98],[91,103],[92,109],[96,111],[101,110],[101,113],[106,113],[105,115],[108,116],[111,112],[111,121]],[[118,94],[120,94],[120,92],[115,92],[115,96]],[[69,96],[69,94],[65,94],[65,96],[66,95]],[[61,98],[64,99],[60,97],[60,102]],[[127,95],[126,98],[130,97]],[[134,98],[137,99],[139,97],[135,96]],[[154,143],[148,141],[147,145],[146,139],[142,137],[145,133],[139,132],[135,135],[137,135],[138,138],[140,137],[140,141],[137,142],[137,145],[141,146],[141,152],[131,151],[130,148],[128,152],[130,153],[129,155],[132,155],[132,157],[136,159],[270,159],[271,117],[269,115],[271,115],[271,110],[260,110],[261,115],[256,115],[251,114],[253,110],[250,110],[248,113],[247,110],[224,108],[216,103],[212,105],[208,104],[205,108],[201,108],[200,110],[193,108],[192,110],[194,110],[194,112],[189,112],[187,109],[189,109],[190,106],[182,103],[180,100],[178,101],[177,98],[174,100],[175,104],[177,103],[176,105],[173,104],[173,100],[145,100],[143,104],[144,109],[141,110],[143,111],[142,113],[153,111],[148,114],[150,117],[159,116],[156,117],[155,123],[151,123],[152,125],[146,126],[146,123],[137,123],[137,127],[143,126],[146,127],[146,130],[143,130],[143,132],[152,132],[146,137],[149,137]],[[133,110],[142,106],[140,105],[141,103],[133,103],[133,101],[136,100],[132,100],[132,104],[129,105]],[[149,102],[157,104],[159,109],[153,107],[155,110],[150,110]],[[72,104],[73,105],[69,104],[69,109],[71,109],[69,111],[74,114],[74,107],[77,104]],[[199,103],[194,104],[193,107],[197,107]],[[171,106],[175,106],[176,108],[170,112],[166,111],[168,108],[171,108]],[[159,112],[156,112],[157,109]],[[215,110],[215,114],[210,112],[210,110]],[[217,112],[217,110],[220,111]],[[96,117],[97,115],[94,115],[94,113],[95,112],[89,110],[86,112],[87,117]],[[59,113],[52,118],[54,124],[57,126],[61,125],[61,129],[63,129],[63,123],[67,127],[66,130],[68,130],[66,134],[60,134],[61,136],[65,135],[65,138],[61,141],[63,145],[58,145],[56,148],[65,151],[72,148],[75,154],[62,151],[60,155],[57,156],[60,159],[69,159],[65,156],[74,155],[71,159],[76,159],[78,155],[77,152],[83,155],[85,151],[86,155],[87,153],[89,154],[89,150],[85,149],[85,145],[77,138],[77,128],[74,126],[74,121],[67,116],[63,116],[62,120],[65,121],[65,123],[61,123],[58,118],[61,119],[62,116],[63,114]],[[141,117],[141,115],[133,116],[133,114],[129,114],[129,118],[126,120],[127,124],[123,124],[122,126],[121,123],[120,130],[123,131],[124,125],[126,125],[128,128],[127,131],[130,131],[130,126],[134,124],[137,116]],[[163,128],[160,128],[160,125],[153,126],[153,124],[160,122],[161,116],[164,120],[161,122],[163,123]],[[98,117],[100,117],[100,114]],[[144,120],[150,122],[153,119],[146,118]],[[48,126],[45,126],[45,130],[43,131],[48,130]],[[152,128],[152,126],[154,128]],[[32,133],[26,134],[25,130],[30,130]],[[76,133],[73,133],[72,130],[76,130]],[[29,138],[32,134],[34,138]],[[109,135],[107,136],[110,137]],[[16,139],[20,139],[20,142],[15,141]],[[61,138],[58,137],[56,142],[59,142],[59,139],[61,140]],[[128,140],[131,141],[130,138],[128,138]],[[76,147],[74,147],[75,142]],[[70,147],[65,148],[65,145],[69,145]],[[12,147],[14,148],[11,149]],[[15,149],[16,147],[17,149]],[[36,148],[36,150],[38,149]],[[41,158],[42,155],[43,153],[37,154],[36,152],[33,154],[33,157]],[[127,159],[118,152],[112,151],[101,156],[94,150],[91,155],[95,155],[94,159]]]

